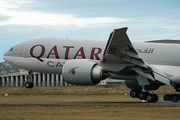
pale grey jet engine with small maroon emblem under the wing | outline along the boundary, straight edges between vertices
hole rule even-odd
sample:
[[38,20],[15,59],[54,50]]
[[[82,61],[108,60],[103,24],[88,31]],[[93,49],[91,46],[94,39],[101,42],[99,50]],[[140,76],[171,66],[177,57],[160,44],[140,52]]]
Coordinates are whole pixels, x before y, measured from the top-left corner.
[[95,85],[109,76],[96,62],[87,59],[66,61],[62,75],[67,83],[74,85]]

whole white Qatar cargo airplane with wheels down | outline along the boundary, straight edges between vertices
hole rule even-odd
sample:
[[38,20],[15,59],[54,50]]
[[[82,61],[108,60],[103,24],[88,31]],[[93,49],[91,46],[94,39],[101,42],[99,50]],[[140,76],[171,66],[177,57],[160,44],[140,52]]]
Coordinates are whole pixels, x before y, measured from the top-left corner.
[[96,85],[106,78],[125,80],[132,98],[157,102],[149,93],[163,85],[172,85],[176,94],[164,95],[164,101],[180,100],[180,45],[131,43],[127,27],[114,29],[108,41],[45,38],[14,45],[3,58],[29,71],[26,88],[32,88],[32,72],[62,74],[74,85]]

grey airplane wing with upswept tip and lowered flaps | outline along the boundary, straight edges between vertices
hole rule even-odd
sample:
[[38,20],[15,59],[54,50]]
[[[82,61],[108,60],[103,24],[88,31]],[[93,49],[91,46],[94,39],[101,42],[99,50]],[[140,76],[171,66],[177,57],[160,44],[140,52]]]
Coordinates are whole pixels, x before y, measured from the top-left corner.
[[166,74],[146,64],[139,57],[126,31],[127,28],[120,28],[110,34],[100,65],[107,71],[134,74],[139,85],[148,85],[148,80],[170,85]]

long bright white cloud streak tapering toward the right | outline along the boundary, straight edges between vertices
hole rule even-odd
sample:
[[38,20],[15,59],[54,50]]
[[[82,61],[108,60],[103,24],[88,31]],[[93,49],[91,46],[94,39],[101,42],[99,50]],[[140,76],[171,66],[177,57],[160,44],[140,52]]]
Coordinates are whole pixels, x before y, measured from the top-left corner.
[[114,23],[125,21],[125,19],[111,17],[95,17],[95,18],[78,18],[70,14],[47,14],[40,12],[21,12],[0,9],[0,14],[9,16],[10,19],[1,21],[0,25],[63,25],[86,27],[93,24]]

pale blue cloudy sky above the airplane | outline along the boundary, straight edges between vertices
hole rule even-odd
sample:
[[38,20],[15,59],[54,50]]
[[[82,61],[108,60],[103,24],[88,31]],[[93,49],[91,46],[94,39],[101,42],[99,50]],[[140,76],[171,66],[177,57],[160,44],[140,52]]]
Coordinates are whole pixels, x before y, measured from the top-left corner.
[[131,42],[180,39],[180,0],[0,0],[0,62],[38,38],[108,40],[128,27]]

